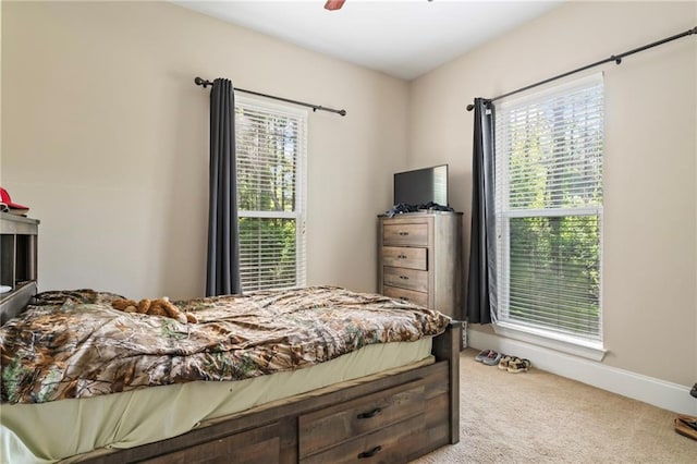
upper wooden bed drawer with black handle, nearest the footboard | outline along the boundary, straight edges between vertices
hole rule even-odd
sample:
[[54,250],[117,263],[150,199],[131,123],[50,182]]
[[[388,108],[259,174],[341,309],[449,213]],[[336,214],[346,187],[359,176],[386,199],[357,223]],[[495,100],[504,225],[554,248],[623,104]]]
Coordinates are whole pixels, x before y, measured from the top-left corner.
[[[302,415],[298,418],[301,460],[391,424],[421,415],[425,406],[424,391],[424,384],[415,381]],[[358,450],[353,459],[362,451],[366,450]]]

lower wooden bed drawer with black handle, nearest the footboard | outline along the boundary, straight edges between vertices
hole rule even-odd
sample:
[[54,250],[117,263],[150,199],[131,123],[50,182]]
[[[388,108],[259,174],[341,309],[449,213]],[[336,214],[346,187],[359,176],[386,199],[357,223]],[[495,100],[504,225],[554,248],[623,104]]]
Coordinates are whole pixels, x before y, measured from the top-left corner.
[[301,457],[301,463],[407,463],[424,442],[425,434],[425,418],[421,414],[345,441],[321,453]]

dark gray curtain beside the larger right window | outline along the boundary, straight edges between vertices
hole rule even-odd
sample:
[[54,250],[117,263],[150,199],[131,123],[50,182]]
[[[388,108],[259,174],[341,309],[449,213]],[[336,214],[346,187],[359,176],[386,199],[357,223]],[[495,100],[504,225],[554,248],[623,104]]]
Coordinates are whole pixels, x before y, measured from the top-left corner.
[[467,320],[491,323],[497,310],[493,105],[475,98]]

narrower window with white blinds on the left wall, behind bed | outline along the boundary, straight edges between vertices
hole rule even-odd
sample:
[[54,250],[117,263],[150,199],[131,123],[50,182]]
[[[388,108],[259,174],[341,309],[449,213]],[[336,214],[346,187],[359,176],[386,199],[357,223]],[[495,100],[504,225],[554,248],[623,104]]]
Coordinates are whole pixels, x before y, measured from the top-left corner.
[[305,111],[237,98],[243,291],[305,284],[306,126]]

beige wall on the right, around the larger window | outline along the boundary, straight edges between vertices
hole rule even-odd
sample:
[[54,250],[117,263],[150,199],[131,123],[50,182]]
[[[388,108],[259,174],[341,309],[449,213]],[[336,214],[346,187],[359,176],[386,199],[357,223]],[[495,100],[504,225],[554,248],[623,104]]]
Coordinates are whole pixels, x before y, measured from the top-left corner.
[[[494,97],[695,25],[695,2],[565,4],[412,83],[409,163],[449,162],[453,204],[468,211],[473,113],[465,106],[474,97]],[[696,60],[690,36],[600,68],[604,362],[683,386],[697,381]]]

